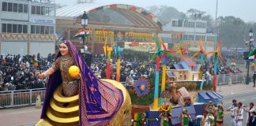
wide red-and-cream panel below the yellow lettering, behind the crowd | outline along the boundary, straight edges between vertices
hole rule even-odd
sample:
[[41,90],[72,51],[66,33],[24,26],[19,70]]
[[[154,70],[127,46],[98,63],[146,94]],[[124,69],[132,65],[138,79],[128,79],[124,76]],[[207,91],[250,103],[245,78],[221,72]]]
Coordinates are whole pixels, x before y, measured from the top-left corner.
[[[164,43],[168,47],[168,43]],[[140,51],[140,52],[156,52],[156,43],[139,43],[139,42],[125,42],[125,49]]]

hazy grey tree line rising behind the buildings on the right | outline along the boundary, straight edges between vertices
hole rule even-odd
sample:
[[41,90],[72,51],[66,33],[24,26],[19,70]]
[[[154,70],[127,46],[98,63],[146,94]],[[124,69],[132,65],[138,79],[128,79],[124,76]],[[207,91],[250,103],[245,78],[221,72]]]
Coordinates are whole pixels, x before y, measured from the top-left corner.
[[[164,24],[170,23],[171,19],[174,18],[207,20],[207,32],[213,33],[213,31],[216,31],[217,42],[220,42],[220,39],[223,39],[223,46],[248,47],[245,42],[249,40],[248,31],[250,28],[253,29],[255,33],[254,36],[256,36],[256,23],[246,23],[239,17],[218,17],[216,20],[214,20],[213,17],[208,13],[198,9],[189,9],[186,11],[186,14],[179,12],[179,10],[171,6],[150,6],[147,9],[149,12],[159,17],[160,20],[164,22]],[[256,44],[254,45],[256,46]]]

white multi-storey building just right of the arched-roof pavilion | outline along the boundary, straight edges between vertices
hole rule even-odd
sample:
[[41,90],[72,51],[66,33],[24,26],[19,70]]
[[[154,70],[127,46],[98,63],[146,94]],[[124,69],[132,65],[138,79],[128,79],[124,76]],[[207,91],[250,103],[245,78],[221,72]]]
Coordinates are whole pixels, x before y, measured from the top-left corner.
[[163,26],[160,33],[168,43],[183,42],[190,50],[198,50],[200,39],[206,51],[214,50],[216,34],[207,30],[206,20],[172,19],[170,24]]

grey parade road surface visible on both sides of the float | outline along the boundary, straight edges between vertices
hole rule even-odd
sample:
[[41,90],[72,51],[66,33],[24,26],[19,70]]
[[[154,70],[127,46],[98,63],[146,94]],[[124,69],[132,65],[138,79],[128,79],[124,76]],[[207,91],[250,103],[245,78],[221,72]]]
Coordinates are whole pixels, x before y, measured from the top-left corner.
[[[234,84],[231,86],[221,86],[221,91],[217,88],[217,93],[223,95],[223,105],[225,111],[232,104],[232,99],[243,102],[248,106],[250,102],[256,104],[256,88],[251,85]],[[0,125],[2,126],[32,126],[40,120],[41,109],[35,106],[0,109]],[[246,125],[246,113],[244,113],[243,125]],[[231,126],[231,115],[225,113],[224,126]]]

